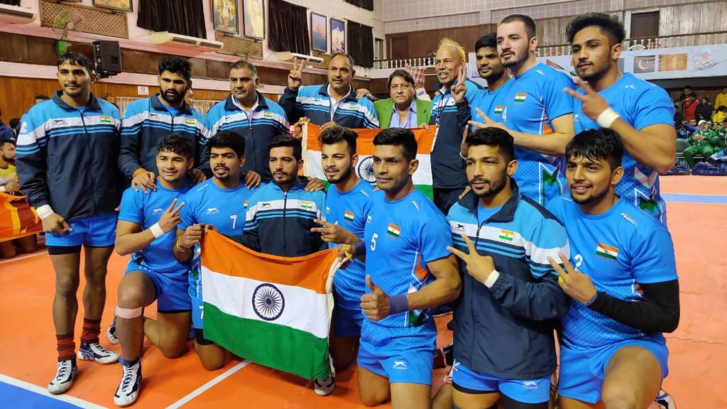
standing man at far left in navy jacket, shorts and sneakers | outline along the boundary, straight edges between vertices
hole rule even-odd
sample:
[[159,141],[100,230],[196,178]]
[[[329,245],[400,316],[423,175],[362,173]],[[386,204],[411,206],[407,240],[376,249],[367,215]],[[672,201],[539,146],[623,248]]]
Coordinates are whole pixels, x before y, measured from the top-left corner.
[[[100,346],[106,298],[106,264],[116,239],[121,200],[119,109],[96,98],[91,61],[77,52],[58,58],[62,90],[23,116],[17,140],[17,176],[28,203],[43,221],[48,254],[56,274],[53,322],[58,364],[48,392],[71,388],[79,360],[103,364],[119,355]],[[76,355],[76,324],[84,246],[84,325]]]

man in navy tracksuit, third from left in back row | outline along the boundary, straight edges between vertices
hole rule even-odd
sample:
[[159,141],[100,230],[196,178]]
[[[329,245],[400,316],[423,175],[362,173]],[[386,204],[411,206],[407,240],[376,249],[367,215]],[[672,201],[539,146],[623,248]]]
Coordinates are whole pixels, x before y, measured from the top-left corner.
[[[206,119],[210,135],[232,131],[245,138],[243,172],[252,170],[269,183],[273,175],[268,167],[268,143],[288,133],[288,119],[278,103],[257,92],[258,84],[257,68],[246,60],[238,60],[230,67],[230,95],[216,103]],[[252,187],[251,175],[245,175],[248,187]]]

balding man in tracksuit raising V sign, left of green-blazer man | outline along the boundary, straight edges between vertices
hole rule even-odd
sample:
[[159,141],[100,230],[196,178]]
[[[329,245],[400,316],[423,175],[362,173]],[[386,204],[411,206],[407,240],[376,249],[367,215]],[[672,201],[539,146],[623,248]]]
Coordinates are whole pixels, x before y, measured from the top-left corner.
[[351,85],[356,71],[353,58],[346,54],[334,54],[328,65],[328,84],[302,85],[303,61],[293,61],[288,75],[288,87],[280,98],[280,105],[290,122],[307,116],[313,124],[324,126],[335,123],[347,128],[377,128],[374,103],[368,98],[356,99]]

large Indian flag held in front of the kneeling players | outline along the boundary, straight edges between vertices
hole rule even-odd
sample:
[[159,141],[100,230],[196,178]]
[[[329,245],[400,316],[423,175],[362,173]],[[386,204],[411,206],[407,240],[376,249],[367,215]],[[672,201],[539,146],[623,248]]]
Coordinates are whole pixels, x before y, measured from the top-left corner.
[[331,374],[335,250],[285,258],[210,231],[204,238],[204,336],[260,365],[306,379]]

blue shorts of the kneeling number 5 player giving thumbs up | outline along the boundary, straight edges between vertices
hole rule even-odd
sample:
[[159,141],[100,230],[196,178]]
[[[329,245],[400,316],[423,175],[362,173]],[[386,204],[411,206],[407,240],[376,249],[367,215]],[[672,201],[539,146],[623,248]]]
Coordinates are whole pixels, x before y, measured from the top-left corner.
[[387,351],[362,340],[356,362],[361,368],[388,378],[390,384],[431,385],[435,352],[430,348]]

